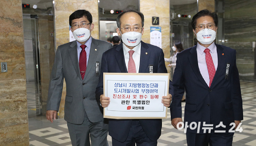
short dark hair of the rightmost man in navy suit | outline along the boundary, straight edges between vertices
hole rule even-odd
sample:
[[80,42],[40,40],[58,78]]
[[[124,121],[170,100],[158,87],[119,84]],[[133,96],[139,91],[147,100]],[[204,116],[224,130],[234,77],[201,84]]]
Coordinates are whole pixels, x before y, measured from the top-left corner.
[[196,13],[196,15],[194,15],[193,18],[192,18],[191,25],[192,25],[194,30],[196,28],[196,21],[197,21],[197,19],[199,19],[200,17],[203,17],[203,16],[210,16],[210,17],[212,17],[212,19],[213,19],[213,21],[215,23],[215,26],[217,27],[217,25],[218,25],[218,15],[215,12],[211,12],[211,11],[209,11],[207,9],[204,9],[204,10]]

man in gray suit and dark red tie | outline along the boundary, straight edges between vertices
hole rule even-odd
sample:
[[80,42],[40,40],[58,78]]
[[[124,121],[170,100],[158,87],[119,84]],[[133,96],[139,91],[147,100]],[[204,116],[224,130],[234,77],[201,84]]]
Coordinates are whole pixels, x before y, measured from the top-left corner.
[[56,120],[65,78],[67,94],[64,120],[68,123],[72,146],[90,146],[90,140],[92,146],[108,146],[108,124],[103,120],[95,90],[102,53],[112,48],[112,44],[90,36],[94,24],[89,11],[73,12],[69,25],[76,41],[60,45],[56,51],[46,118],[52,123],[53,119]]

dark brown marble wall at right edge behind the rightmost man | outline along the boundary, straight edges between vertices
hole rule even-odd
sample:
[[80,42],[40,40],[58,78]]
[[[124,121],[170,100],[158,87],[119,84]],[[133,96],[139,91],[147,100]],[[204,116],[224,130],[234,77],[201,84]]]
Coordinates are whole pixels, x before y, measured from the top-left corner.
[[256,1],[224,0],[220,4],[225,10],[223,45],[236,49],[240,79],[256,81],[256,50],[252,49],[256,41]]

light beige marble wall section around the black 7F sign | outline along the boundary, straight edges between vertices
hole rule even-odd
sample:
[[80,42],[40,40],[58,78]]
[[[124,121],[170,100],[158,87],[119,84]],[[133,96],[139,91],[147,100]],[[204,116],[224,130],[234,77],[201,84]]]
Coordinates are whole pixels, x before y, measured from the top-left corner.
[[[162,27],[162,50],[166,58],[170,57],[170,12],[169,0],[140,0],[140,12],[144,15],[144,34],[142,41],[150,44],[150,26],[152,17],[159,17],[159,26]],[[155,26],[155,25],[154,25]],[[166,65],[169,63],[166,62]]]

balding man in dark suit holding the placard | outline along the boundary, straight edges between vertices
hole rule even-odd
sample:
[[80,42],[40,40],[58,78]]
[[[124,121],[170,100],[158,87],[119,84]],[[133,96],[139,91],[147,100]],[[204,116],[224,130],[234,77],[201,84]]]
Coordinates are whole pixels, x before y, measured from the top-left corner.
[[[103,108],[110,103],[110,98],[103,95],[103,72],[149,73],[149,64],[152,64],[153,73],[167,73],[162,49],[141,41],[143,24],[143,14],[134,10],[123,11],[117,17],[117,33],[122,37],[123,43],[102,55],[96,97]],[[171,94],[162,98],[164,106],[169,107]],[[161,119],[109,119],[109,135],[113,146],[135,146],[135,143],[136,146],[156,146],[161,128]]]

